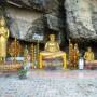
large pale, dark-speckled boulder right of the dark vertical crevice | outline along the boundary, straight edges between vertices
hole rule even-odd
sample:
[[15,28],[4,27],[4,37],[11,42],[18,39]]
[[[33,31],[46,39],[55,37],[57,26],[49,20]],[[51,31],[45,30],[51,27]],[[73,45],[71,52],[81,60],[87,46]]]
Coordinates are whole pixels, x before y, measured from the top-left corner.
[[66,0],[65,8],[70,38],[81,40],[97,39],[96,5],[96,0]]

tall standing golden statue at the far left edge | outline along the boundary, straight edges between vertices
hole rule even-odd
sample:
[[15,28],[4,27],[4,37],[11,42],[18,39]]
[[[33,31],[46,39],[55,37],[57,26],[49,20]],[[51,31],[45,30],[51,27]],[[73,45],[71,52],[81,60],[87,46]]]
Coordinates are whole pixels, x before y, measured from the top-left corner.
[[1,60],[5,60],[6,57],[6,44],[8,44],[8,38],[9,38],[9,29],[5,25],[4,17],[0,20],[0,58]]

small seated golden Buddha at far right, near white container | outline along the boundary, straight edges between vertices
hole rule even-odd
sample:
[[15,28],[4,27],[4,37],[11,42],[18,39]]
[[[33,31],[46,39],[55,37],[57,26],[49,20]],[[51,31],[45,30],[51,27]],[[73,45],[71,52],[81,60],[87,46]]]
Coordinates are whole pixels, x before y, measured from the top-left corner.
[[87,61],[94,60],[94,53],[92,52],[92,47],[87,47],[87,51],[84,54],[84,59]]

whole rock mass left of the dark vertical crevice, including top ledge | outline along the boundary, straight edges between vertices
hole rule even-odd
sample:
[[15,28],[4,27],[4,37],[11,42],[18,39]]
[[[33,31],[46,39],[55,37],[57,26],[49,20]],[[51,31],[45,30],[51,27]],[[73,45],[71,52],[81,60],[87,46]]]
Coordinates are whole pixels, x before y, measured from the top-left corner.
[[5,13],[10,18],[11,37],[29,42],[36,40],[45,42],[47,34],[55,33],[59,43],[65,40],[64,19],[59,11],[61,5],[64,8],[64,3],[58,0],[6,0],[6,2]]

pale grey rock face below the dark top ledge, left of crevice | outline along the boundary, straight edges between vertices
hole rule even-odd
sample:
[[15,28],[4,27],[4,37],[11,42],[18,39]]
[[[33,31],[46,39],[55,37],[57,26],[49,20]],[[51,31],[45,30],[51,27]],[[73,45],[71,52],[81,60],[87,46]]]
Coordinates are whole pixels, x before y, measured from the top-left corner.
[[[64,28],[61,18],[52,14],[43,14],[42,12],[36,12],[31,10],[24,10],[12,5],[6,6],[5,10],[9,19],[9,26],[11,37],[25,41],[45,41],[45,34],[47,29],[60,34],[60,28]],[[61,25],[60,25],[60,24]],[[61,34],[63,36],[63,34]],[[58,36],[58,39],[60,36]],[[61,41],[60,39],[59,41]]]

